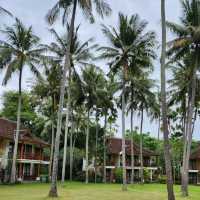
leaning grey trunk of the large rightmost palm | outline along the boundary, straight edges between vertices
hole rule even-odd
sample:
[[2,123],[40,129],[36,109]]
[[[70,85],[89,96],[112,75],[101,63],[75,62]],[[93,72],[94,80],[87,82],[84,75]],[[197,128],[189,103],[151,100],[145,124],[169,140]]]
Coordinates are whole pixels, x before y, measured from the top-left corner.
[[189,170],[189,160],[190,160],[190,152],[192,145],[192,135],[193,135],[193,112],[195,105],[195,95],[196,95],[196,69],[198,67],[198,56],[196,55],[195,60],[195,68],[193,69],[192,75],[192,83],[189,94],[189,106],[188,106],[188,115],[186,121],[186,134],[184,141],[184,154],[183,154],[183,166],[182,166],[182,174],[181,174],[181,191],[182,196],[188,196],[188,170]]

